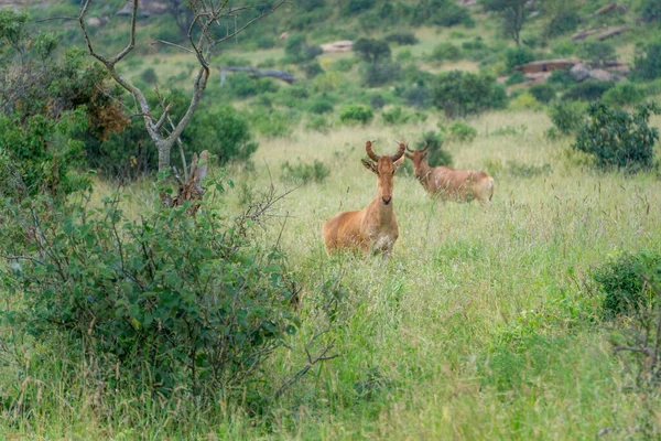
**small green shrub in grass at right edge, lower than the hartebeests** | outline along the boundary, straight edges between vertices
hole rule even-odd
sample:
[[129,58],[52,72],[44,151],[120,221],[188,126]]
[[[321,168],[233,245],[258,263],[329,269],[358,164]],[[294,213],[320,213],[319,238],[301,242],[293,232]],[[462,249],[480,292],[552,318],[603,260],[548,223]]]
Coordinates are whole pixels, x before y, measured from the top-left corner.
[[619,314],[632,314],[650,303],[650,288],[643,275],[661,271],[661,256],[622,254],[593,270],[604,298],[602,306],[606,318]]

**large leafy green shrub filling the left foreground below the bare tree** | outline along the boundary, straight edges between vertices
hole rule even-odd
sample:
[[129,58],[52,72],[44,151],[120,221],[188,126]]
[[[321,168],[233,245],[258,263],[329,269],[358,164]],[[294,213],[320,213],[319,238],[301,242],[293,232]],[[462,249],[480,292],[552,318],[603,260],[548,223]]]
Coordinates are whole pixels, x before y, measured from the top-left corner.
[[3,322],[94,358],[113,389],[129,378],[165,395],[254,387],[257,367],[296,331],[283,255],[253,245],[248,216],[193,217],[182,206],[129,219],[117,200],[105,201],[32,223],[43,240],[28,237],[14,250],[39,258],[0,267],[11,281],[3,289],[22,299]]

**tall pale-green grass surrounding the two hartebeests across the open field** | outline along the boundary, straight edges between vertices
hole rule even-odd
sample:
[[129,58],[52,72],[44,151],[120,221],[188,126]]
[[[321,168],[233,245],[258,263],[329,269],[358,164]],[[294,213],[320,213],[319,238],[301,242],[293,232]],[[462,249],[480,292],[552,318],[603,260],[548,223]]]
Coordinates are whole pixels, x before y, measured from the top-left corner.
[[[489,136],[512,121],[525,130]],[[288,196],[282,217],[263,234],[281,235],[300,277],[303,335],[317,325],[324,287],[342,282],[328,334],[339,357],[311,369],[267,413],[240,404],[209,409],[184,391],[165,400],[134,397],[131,385],[110,390],[94,372],[112,367],[65,365],[63,354],[26,342],[29,366],[0,367],[0,438],[528,440],[592,439],[602,430],[639,437],[641,398],[611,352],[587,273],[609,254],[660,250],[657,174],[582,165],[568,140],[544,138],[543,114],[488,114],[470,121],[478,129],[473,143],[446,146],[457,168],[516,161],[550,164],[549,173],[494,172],[489,207],[432,201],[414,179],[398,175],[400,238],[391,258],[326,257],[322,223],[376,195],[376,179],[359,161],[365,141],[392,154],[395,139],[412,144],[436,122],[263,139],[253,171],[228,171],[247,184],[243,193],[286,185],[280,165],[293,158],[322,161],[332,172]],[[220,196],[228,212],[246,203],[239,187]],[[137,213],[142,197],[129,202]],[[275,385],[305,364],[296,356],[303,337],[291,344],[268,366]],[[8,401],[21,394],[41,398],[9,415]]]

